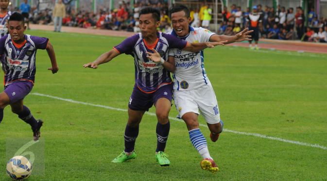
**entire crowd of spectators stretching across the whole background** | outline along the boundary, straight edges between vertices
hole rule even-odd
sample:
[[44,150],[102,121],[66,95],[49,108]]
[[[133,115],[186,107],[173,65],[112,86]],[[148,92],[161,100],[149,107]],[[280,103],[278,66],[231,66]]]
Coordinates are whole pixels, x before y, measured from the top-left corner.
[[[131,5],[129,2],[120,1],[119,8],[109,10],[101,9],[97,14],[92,11],[79,10],[75,12],[73,8],[67,6],[66,16],[62,19],[63,26],[81,27],[81,28],[98,28],[107,30],[123,30],[129,32],[139,32],[138,12],[143,6],[152,6],[159,8],[161,12],[159,31],[171,31],[171,20],[169,17],[168,4],[164,0],[140,0],[138,3]],[[301,7],[286,9],[285,7],[262,6],[258,4],[258,14],[261,23],[259,24],[260,37],[269,39],[295,40],[311,42],[327,42],[327,18],[318,19],[314,9],[311,9],[307,16]],[[204,11],[212,15],[211,8],[206,4],[201,4],[200,9],[191,9],[191,25],[193,27],[203,27]],[[219,26],[219,34],[234,35],[248,26],[248,16],[250,9],[242,11],[241,7],[235,4],[231,5],[228,11],[224,7],[222,12],[223,21]],[[307,21],[306,18],[307,17]],[[210,18],[211,19],[211,18]],[[37,11],[32,8],[30,21],[34,24],[52,24],[52,9]],[[209,27],[206,27],[209,28]]]

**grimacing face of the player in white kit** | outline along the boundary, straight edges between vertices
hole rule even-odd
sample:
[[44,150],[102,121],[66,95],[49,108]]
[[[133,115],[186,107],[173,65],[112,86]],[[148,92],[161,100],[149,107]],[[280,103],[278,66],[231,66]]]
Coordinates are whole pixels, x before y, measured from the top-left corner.
[[186,36],[189,34],[189,22],[191,18],[185,16],[184,11],[172,13],[172,28],[176,34],[180,37]]

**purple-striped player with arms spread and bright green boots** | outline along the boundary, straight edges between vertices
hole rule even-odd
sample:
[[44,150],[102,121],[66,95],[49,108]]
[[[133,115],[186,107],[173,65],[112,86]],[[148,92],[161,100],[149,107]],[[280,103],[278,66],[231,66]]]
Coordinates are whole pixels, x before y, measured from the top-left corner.
[[[126,38],[112,50],[102,54],[94,62],[84,67],[97,68],[100,64],[111,61],[121,53],[134,57],[135,86],[128,104],[128,121],[124,134],[125,149],[115,158],[113,163],[122,163],[136,158],[134,151],[135,141],[138,137],[138,127],[142,116],[152,105],[155,105],[157,116],[157,148],[155,159],[161,166],[170,165],[168,156],[164,153],[170,130],[169,111],[172,101],[172,79],[170,71],[174,65],[168,60],[169,48],[187,49],[197,52],[199,50],[223,45],[222,42],[205,42],[199,44],[187,43],[172,35],[157,32],[160,12],[151,7],[143,8],[139,13],[139,27],[141,33]],[[155,49],[155,51],[154,51]],[[147,52],[158,52],[162,57],[160,63],[148,59]]]

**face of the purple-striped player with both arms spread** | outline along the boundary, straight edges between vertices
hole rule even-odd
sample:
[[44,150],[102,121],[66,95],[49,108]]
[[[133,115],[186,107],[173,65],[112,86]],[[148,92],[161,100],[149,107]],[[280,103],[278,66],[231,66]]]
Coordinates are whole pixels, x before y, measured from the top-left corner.
[[151,13],[139,16],[138,22],[143,37],[156,35],[156,29],[159,27],[160,22],[155,21]]

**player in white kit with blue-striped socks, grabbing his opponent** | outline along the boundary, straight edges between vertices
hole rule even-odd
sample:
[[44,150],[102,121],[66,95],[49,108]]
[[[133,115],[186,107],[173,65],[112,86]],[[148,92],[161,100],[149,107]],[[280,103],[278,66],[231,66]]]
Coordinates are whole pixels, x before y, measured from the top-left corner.
[[[189,9],[178,5],[171,9],[172,35],[188,42],[224,42],[250,40],[252,31],[245,29],[234,36],[217,35],[203,28],[189,26]],[[198,115],[201,112],[207,120],[210,138],[216,142],[219,133],[223,131],[224,123],[220,119],[217,99],[204,67],[203,50],[192,53],[182,49],[170,49],[169,62],[175,64],[173,72],[173,98],[179,116],[185,121],[189,130],[192,145],[203,157],[201,167],[216,172],[218,166],[214,163],[207,148],[206,138],[199,129]],[[200,110],[200,112],[199,112]]]

